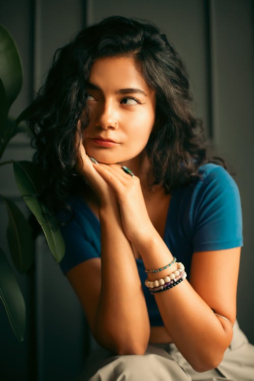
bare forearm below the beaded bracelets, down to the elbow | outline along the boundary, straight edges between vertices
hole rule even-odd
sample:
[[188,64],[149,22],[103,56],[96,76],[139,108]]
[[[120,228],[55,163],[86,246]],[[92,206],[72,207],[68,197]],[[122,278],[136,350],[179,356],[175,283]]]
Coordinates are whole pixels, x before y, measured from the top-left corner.
[[215,368],[230,344],[230,325],[221,325],[186,279],[179,287],[155,295],[155,300],[167,332],[185,359],[197,371]]

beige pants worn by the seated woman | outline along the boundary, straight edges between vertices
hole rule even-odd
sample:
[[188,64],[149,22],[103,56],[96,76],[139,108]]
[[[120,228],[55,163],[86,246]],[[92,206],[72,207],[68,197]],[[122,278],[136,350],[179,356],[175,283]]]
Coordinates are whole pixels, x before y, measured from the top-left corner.
[[148,345],[144,356],[112,356],[99,348],[77,381],[254,381],[254,346],[234,325],[234,336],[218,368],[196,372],[174,344]]

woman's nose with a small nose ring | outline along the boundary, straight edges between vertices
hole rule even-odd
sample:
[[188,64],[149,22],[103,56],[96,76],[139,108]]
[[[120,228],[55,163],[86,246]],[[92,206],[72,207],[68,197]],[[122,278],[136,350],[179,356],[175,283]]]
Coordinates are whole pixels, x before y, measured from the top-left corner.
[[103,130],[118,129],[117,111],[112,100],[106,100],[101,107],[96,125]]

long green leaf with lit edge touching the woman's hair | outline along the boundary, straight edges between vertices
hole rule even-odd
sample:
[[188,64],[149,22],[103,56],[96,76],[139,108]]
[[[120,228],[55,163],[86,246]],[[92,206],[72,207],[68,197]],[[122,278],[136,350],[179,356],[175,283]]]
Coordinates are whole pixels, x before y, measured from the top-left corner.
[[27,161],[14,162],[13,169],[20,194],[41,225],[53,256],[60,262],[65,255],[65,242],[56,219],[38,200],[41,181],[36,165]]

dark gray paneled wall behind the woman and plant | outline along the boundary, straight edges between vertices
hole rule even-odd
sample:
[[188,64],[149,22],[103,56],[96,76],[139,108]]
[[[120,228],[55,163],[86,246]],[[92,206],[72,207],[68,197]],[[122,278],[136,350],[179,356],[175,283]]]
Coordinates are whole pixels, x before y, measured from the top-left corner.
[[[195,109],[204,119],[207,137],[237,173],[244,227],[237,317],[254,343],[253,9],[251,0],[0,1],[0,22],[15,38],[24,68],[24,85],[13,116],[33,99],[55,49],[86,23],[117,14],[139,17],[161,26],[173,42],[187,67]],[[27,139],[19,136],[3,159],[30,159],[32,153]],[[0,175],[4,178],[1,193],[22,205],[11,168],[1,167]],[[0,213],[0,245],[8,251],[7,215],[1,203]],[[2,379],[72,379],[82,367],[85,323],[72,289],[42,239],[37,242],[34,275],[17,274],[17,278],[27,305],[26,336],[22,344],[16,342],[0,304]]]

